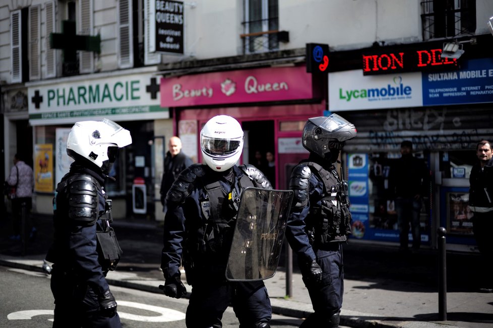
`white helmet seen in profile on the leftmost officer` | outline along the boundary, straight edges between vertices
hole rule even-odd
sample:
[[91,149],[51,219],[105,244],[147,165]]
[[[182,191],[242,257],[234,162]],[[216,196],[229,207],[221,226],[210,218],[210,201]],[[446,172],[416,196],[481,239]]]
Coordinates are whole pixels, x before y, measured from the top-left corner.
[[118,148],[131,143],[129,130],[106,118],[76,122],[67,139],[67,154],[75,160],[87,159],[108,174]]

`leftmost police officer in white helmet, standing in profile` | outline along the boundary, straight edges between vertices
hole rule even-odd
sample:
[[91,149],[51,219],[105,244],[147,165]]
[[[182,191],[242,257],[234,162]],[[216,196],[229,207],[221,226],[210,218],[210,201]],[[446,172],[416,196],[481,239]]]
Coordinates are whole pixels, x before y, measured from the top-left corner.
[[74,158],[53,198],[53,244],[46,260],[53,263],[53,327],[121,327],[106,274],[121,250],[110,227],[111,201],[104,182],[119,147],[132,143],[118,124],[77,122],[67,140]]

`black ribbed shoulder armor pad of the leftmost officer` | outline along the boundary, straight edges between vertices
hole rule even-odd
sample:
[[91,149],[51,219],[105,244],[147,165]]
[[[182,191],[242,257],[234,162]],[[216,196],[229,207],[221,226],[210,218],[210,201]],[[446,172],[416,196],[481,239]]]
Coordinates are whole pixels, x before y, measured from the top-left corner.
[[67,180],[69,218],[88,225],[98,219],[99,183],[85,174],[74,175]]

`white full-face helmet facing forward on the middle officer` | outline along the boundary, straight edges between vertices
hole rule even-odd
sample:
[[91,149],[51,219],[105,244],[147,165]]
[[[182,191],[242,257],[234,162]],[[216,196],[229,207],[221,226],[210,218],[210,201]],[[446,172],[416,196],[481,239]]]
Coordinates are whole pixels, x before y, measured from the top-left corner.
[[229,170],[243,151],[241,125],[231,116],[214,116],[200,132],[200,147],[209,168],[217,172]]

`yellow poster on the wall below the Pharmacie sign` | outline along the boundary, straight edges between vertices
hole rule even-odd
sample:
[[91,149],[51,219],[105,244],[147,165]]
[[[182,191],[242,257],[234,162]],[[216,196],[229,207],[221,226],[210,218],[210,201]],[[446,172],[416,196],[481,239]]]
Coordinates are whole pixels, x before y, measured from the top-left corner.
[[34,190],[41,193],[53,192],[53,145],[34,145]]

